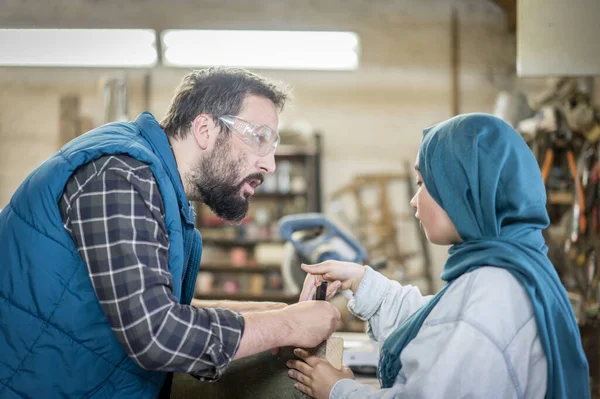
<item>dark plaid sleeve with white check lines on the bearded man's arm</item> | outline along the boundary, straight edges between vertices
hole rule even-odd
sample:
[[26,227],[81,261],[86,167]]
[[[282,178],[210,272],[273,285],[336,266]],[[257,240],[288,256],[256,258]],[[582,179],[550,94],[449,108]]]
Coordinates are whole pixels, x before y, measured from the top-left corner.
[[163,203],[150,168],[124,155],[90,162],[70,178],[59,206],[129,356],[145,369],[219,378],[238,349],[244,319],[173,296]]

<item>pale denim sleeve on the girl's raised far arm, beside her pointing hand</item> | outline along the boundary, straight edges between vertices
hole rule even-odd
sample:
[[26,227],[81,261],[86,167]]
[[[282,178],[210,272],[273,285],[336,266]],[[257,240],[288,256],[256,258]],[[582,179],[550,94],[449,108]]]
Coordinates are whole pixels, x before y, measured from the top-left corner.
[[410,315],[433,298],[419,288],[400,285],[366,267],[365,275],[348,303],[348,310],[369,322],[369,336],[382,343]]

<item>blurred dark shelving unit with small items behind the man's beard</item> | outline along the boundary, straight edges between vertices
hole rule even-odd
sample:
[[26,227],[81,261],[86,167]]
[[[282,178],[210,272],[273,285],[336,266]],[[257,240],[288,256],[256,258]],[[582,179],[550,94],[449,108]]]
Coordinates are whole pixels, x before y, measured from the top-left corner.
[[284,241],[281,217],[321,211],[321,137],[301,138],[281,132],[277,170],[265,175],[240,225],[221,221],[203,204],[195,204],[203,255],[195,298],[201,300],[275,301],[293,303],[281,277]]

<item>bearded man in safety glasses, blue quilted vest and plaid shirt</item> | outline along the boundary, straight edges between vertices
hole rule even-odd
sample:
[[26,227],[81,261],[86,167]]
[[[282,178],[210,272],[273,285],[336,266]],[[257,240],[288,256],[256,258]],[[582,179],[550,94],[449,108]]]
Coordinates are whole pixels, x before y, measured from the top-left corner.
[[191,300],[202,241],[189,201],[240,221],[275,171],[287,93],[243,69],[186,76],[159,123],[144,112],[67,143],[0,213],[0,397],[168,397],[173,372],[313,347],[319,301]]

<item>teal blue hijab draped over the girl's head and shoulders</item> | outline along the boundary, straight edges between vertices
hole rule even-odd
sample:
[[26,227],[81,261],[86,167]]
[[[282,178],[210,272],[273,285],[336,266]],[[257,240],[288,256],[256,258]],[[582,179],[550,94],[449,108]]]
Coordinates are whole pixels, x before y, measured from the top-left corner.
[[379,378],[394,384],[400,353],[452,282],[478,267],[508,270],[533,305],[548,360],[547,398],[589,398],[588,364],[567,293],[542,230],[549,224],[546,190],[533,153],[499,118],[459,115],[427,128],[419,169],[433,199],[446,211],[463,242],[453,245],[442,271],[445,287],[385,341]]

